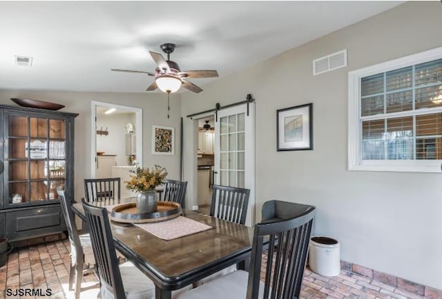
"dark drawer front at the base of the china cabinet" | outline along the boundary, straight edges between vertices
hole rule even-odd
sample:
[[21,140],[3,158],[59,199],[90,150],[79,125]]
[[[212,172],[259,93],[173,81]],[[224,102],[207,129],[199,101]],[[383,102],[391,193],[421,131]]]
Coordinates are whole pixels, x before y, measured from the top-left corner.
[[6,236],[19,240],[66,230],[61,207],[38,207],[6,214]]

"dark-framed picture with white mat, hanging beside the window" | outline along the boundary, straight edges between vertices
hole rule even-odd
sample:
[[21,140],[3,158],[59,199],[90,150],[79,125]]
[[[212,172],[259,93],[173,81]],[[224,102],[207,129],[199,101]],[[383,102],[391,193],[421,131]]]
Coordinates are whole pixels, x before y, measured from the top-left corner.
[[313,149],[313,103],[276,111],[278,152]]

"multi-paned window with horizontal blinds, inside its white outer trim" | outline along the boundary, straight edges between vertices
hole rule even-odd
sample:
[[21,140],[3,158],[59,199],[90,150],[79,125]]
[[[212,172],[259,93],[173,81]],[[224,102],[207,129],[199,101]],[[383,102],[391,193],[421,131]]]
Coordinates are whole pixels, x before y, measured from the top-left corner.
[[361,158],[442,160],[442,59],[361,78]]

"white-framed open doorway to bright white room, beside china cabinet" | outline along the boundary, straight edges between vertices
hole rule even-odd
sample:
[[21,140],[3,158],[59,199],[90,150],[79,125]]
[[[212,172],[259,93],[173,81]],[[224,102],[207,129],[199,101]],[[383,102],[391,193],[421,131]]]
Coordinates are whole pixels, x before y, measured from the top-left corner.
[[142,165],[142,109],[92,102],[91,178],[122,177]]

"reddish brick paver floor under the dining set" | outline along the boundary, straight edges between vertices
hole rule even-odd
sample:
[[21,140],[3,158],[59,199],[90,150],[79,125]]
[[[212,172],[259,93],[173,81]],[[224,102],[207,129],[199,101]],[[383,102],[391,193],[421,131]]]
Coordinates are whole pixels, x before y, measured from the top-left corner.
[[[0,268],[0,299],[3,298],[48,298],[48,296],[6,296],[7,289],[50,289],[50,298],[74,298],[73,291],[68,291],[69,242],[57,240],[50,243],[32,245],[15,249],[8,257],[8,262]],[[341,270],[336,277],[325,277],[305,270],[300,298],[302,299],[343,299],[343,298],[381,298],[381,299],[425,299],[437,298],[439,290],[428,289],[421,296],[387,285],[367,276]],[[81,298],[97,298],[98,283],[93,274],[85,276]],[[422,290],[418,290],[422,293]],[[436,294],[436,295],[434,295]]]

